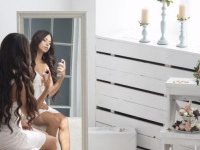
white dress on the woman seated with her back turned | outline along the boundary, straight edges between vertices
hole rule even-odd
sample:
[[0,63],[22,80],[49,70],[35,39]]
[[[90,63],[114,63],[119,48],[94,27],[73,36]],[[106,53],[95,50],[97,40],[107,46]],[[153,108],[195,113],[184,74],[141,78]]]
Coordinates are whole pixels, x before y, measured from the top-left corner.
[[[14,111],[17,103],[14,102],[11,108],[10,126],[13,129],[11,134],[7,125],[0,127],[0,150],[39,150],[46,141],[46,135],[36,129],[23,130],[21,122],[17,125],[17,117]],[[21,113],[21,110],[19,110]]]

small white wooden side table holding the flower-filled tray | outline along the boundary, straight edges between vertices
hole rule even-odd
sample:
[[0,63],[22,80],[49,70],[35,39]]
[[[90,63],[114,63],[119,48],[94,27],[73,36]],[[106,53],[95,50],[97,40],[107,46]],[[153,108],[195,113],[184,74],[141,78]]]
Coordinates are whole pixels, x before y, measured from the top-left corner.
[[188,134],[172,130],[175,123],[176,111],[179,106],[176,100],[200,101],[200,86],[193,78],[169,78],[166,82],[167,118],[164,128],[160,131],[162,150],[173,150],[173,145],[190,145],[194,150],[200,150],[200,133]]

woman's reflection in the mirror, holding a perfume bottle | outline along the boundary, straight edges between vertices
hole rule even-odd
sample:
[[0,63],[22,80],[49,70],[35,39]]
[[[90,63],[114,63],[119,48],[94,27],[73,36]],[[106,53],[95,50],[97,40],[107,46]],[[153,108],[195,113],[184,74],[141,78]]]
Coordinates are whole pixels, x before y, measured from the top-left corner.
[[[55,56],[53,47],[53,38],[50,32],[45,30],[37,31],[30,43],[32,55],[32,68],[34,70],[33,85],[35,89],[35,98],[37,99],[40,115],[34,119],[35,125],[46,125],[46,132],[58,138],[62,150],[70,149],[69,125],[66,116],[49,107],[45,99],[48,96],[55,98],[65,77],[65,61],[62,60],[55,67]],[[60,74],[57,78],[57,73]],[[48,85],[44,83],[47,77],[50,77]],[[59,129],[59,130],[58,130]]]

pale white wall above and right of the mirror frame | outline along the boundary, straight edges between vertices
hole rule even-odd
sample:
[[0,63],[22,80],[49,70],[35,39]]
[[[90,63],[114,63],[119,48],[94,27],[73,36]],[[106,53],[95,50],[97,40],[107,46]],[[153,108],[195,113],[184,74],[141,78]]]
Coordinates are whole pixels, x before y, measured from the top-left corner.
[[87,11],[88,114],[94,125],[94,53],[95,0],[0,0],[0,42],[10,32],[17,32],[17,11]]

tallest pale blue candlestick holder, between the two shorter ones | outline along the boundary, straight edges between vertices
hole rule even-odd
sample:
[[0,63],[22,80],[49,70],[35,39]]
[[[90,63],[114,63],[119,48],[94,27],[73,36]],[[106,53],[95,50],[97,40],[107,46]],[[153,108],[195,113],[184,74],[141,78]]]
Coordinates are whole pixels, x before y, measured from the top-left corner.
[[165,28],[166,28],[166,22],[165,22],[165,16],[166,16],[166,1],[163,0],[162,1],[162,13],[161,13],[161,16],[162,16],[162,20],[161,20],[161,38],[160,40],[157,42],[158,45],[167,45],[168,44],[168,41],[165,39]]

